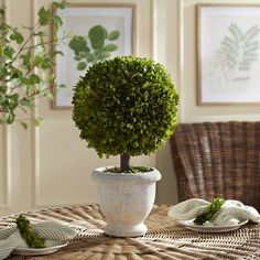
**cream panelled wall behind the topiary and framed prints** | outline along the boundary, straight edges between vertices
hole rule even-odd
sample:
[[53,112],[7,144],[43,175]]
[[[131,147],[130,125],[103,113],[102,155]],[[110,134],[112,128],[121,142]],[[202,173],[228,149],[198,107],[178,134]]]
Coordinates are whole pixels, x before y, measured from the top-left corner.
[[[4,1],[4,0],[2,0]],[[6,0],[8,21],[32,24],[39,7],[51,0]],[[181,95],[180,121],[258,120],[260,106],[196,106],[195,4],[217,0],[77,0],[72,2],[130,2],[138,4],[137,55],[163,63]],[[260,0],[221,1],[259,3]],[[41,116],[40,128],[0,128],[0,215],[35,207],[97,202],[90,180],[94,167],[118,163],[98,159],[78,138],[69,110],[53,110],[41,100],[31,115]],[[30,116],[30,115],[29,115]],[[21,117],[24,117],[21,115]],[[176,203],[176,185],[166,143],[152,156],[134,163],[156,166],[162,173],[158,203]]]

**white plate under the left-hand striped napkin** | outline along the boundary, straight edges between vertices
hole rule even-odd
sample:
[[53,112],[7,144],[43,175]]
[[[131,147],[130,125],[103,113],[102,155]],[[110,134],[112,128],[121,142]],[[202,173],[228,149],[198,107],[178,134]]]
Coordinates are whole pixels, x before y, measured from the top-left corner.
[[17,248],[12,251],[12,254],[20,256],[43,256],[56,252],[58,249],[64,248],[68,245],[68,241],[52,241],[45,242],[45,248]]

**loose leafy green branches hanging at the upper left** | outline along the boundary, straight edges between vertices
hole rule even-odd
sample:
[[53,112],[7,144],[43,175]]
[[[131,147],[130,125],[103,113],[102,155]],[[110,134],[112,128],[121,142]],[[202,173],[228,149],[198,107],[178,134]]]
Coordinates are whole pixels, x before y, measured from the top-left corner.
[[[62,19],[55,11],[64,9],[66,2],[54,2],[53,7],[42,7],[36,24],[24,28],[28,30],[24,34],[4,21],[4,9],[0,8],[0,124],[13,123],[17,109],[23,112],[33,109],[36,98],[53,99],[52,91],[59,87],[51,71],[55,65],[54,57],[62,53],[47,48],[47,45],[56,45],[58,42],[57,39],[46,39],[46,30],[52,25],[57,31],[62,25]],[[41,76],[35,73],[39,69]],[[40,119],[36,119],[35,123],[39,122]],[[28,128],[26,122],[20,123],[24,129]]]

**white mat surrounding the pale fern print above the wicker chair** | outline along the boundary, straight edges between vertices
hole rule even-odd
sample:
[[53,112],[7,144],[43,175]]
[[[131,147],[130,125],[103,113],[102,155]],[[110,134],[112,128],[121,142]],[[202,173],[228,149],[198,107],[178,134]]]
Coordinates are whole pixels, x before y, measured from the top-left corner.
[[[237,24],[242,32],[253,25],[260,29],[260,7],[203,7],[199,13],[201,102],[236,104],[260,101],[260,50],[258,59],[245,73],[248,80],[226,80],[215,64],[216,52],[228,26]],[[260,43],[260,33],[254,41]],[[243,72],[240,73],[242,77]],[[237,76],[238,78],[238,76]]]

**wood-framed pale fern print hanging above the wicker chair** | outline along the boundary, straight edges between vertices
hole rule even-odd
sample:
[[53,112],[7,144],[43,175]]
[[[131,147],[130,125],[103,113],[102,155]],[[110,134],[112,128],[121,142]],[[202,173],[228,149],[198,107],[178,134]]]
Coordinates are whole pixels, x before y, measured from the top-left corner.
[[197,105],[259,105],[260,6],[197,4]]

